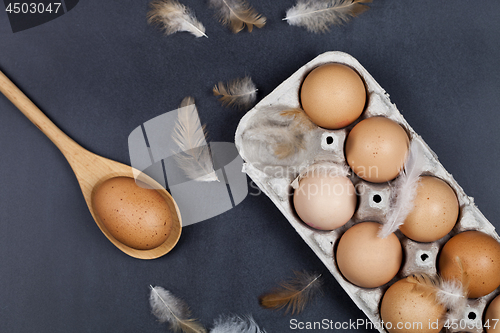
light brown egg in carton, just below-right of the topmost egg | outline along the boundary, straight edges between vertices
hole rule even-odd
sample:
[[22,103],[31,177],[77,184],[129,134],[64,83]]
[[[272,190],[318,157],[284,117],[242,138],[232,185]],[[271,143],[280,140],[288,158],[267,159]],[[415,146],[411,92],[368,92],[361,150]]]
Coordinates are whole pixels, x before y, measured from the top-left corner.
[[385,117],[371,117],[351,130],[345,155],[347,163],[360,178],[383,183],[399,174],[408,145],[408,135],[398,123]]

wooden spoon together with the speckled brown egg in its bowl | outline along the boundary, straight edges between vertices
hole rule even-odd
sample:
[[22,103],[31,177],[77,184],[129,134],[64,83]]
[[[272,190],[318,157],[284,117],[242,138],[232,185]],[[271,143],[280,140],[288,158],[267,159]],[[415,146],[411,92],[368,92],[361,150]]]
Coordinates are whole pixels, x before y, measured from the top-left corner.
[[172,250],[182,221],[177,204],[161,185],[131,166],[82,148],[1,71],[0,91],[66,157],[97,226],[118,249],[138,259],[158,258]]

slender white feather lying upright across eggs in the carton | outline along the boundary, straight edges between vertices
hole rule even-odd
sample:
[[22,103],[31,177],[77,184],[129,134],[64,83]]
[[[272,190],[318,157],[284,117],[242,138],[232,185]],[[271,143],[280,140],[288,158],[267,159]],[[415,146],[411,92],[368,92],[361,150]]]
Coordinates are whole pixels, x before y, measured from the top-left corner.
[[386,238],[398,230],[413,210],[413,201],[417,194],[418,181],[425,162],[422,145],[418,141],[412,140],[404,170],[394,182],[389,212],[378,234],[380,238]]

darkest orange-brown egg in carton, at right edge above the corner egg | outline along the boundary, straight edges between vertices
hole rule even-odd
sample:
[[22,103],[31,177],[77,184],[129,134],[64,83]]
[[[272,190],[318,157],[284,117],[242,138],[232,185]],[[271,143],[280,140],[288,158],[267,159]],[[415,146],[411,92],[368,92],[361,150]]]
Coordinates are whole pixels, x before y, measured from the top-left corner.
[[460,280],[463,269],[470,278],[469,297],[477,298],[500,286],[500,243],[480,231],[465,231],[452,237],[439,255],[439,273]]

